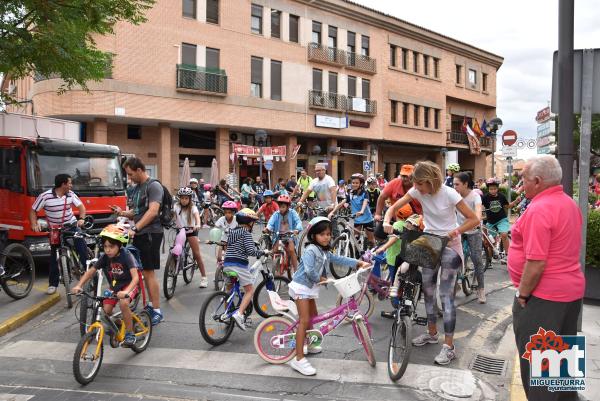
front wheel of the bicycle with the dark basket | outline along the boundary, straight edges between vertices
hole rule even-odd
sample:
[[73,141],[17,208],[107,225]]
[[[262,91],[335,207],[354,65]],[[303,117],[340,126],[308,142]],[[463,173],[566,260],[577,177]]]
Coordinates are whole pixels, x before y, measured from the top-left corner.
[[408,366],[411,350],[412,324],[408,316],[402,316],[397,310],[398,317],[392,324],[392,335],[388,349],[388,375],[392,381],[398,381],[404,375]]

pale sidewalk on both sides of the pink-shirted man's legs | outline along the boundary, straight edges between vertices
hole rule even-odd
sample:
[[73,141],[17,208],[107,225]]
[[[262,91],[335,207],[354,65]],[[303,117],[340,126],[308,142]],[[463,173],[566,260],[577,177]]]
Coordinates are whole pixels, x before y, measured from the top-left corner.
[[[581,391],[579,394],[581,399],[597,400],[598,394],[600,394],[600,303],[590,301],[583,304],[581,329],[579,334],[585,335],[586,377],[585,391]],[[526,400],[521,383],[519,359],[519,356],[515,353],[510,391],[511,401]]]

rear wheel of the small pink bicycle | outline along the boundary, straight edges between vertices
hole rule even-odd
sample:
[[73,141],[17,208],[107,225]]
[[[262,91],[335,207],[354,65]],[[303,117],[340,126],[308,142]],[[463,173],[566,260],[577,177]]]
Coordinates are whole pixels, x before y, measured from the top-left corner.
[[254,331],[254,349],[264,361],[280,365],[296,356],[296,347],[277,347],[273,337],[284,334],[294,323],[285,316],[263,320]]

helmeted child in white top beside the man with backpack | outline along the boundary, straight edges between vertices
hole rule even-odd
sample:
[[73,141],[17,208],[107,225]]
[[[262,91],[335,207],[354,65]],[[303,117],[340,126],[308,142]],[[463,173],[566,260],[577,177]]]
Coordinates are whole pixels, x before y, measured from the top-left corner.
[[186,228],[185,238],[190,244],[192,254],[200,269],[200,288],[206,288],[208,287],[208,279],[206,278],[206,269],[204,268],[202,255],[200,254],[200,242],[198,241],[198,231],[201,227],[200,212],[192,202],[193,194],[194,191],[192,188],[179,188],[177,191],[177,202],[173,205],[173,212],[177,228]]

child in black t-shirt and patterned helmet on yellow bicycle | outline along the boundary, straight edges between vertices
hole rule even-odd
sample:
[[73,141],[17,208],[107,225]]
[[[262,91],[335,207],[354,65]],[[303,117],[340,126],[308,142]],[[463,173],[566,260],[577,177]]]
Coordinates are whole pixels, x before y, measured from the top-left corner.
[[[133,320],[129,303],[138,293],[138,265],[133,254],[123,246],[129,242],[127,230],[111,224],[102,230],[100,238],[104,253],[75,284],[72,292],[75,294],[81,292],[83,285],[94,277],[98,269],[102,269],[108,278],[110,290],[119,299],[119,308],[121,308],[125,322],[125,340],[121,346],[129,348],[135,345],[136,340],[133,334]],[[104,312],[111,315],[116,304],[117,300],[115,299],[105,299],[103,302]]]

